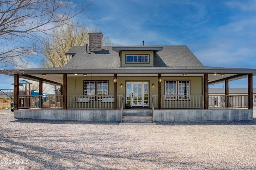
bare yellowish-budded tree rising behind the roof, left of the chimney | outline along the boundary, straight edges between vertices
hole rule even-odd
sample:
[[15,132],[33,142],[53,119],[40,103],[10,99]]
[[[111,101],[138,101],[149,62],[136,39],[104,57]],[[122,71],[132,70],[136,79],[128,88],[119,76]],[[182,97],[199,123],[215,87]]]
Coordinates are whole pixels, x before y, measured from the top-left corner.
[[[85,46],[89,43],[88,33],[99,32],[97,28],[90,29],[78,25],[81,24],[64,25],[54,29],[51,41],[44,43],[44,58],[40,67],[63,67],[72,58],[65,55],[71,47]],[[112,45],[107,36],[103,37],[103,45]]]

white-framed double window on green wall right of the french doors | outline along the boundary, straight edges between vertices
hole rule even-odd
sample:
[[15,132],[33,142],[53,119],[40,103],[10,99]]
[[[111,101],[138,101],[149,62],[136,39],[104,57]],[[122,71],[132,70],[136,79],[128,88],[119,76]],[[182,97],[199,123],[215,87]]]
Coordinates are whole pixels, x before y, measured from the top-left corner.
[[[177,83],[178,82],[178,83]],[[190,100],[189,80],[166,80],[165,100]]]

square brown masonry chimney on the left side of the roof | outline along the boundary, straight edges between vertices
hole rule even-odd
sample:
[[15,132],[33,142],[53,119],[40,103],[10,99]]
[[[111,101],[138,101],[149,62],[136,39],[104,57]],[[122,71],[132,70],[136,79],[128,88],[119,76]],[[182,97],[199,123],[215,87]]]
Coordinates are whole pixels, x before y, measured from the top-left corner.
[[102,50],[102,33],[88,33],[89,35],[89,51]]

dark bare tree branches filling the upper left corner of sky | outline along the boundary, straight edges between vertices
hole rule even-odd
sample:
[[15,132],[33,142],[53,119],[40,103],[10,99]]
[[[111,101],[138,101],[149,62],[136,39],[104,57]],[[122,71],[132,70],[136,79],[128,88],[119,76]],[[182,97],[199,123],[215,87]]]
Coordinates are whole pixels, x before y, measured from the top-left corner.
[[60,0],[0,0],[0,68],[26,63],[27,58],[41,52],[42,37],[71,24],[90,5],[85,2],[78,7]]

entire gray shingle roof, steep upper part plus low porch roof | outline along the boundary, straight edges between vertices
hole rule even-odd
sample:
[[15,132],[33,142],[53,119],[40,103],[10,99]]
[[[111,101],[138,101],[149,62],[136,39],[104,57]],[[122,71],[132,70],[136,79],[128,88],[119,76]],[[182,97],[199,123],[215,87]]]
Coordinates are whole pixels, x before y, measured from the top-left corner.
[[[154,67],[120,67],[119,53],[114,51],[122,49],[152,49],[155,52]],[[146,48],[145,48],[146,47]],[[161,48],[160,48],[161,47]],[[154,50],[155,49],[155,50]],[[162,49],[162,50],[161,50]],[[103,46],[102,51],[86,54],[85,46],[72,47],[67,54],[74,57],[64,66],[55,68],[28,68],[25,70],[0,70],[1,74],[62,74],[74,72],[87,73],[225,73],[256,75],[256,69],[209,67],[194,56],[187,46]],[[243,78],[242,76],[240,78]]]

